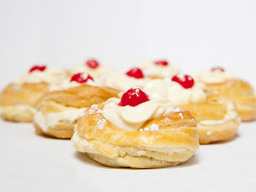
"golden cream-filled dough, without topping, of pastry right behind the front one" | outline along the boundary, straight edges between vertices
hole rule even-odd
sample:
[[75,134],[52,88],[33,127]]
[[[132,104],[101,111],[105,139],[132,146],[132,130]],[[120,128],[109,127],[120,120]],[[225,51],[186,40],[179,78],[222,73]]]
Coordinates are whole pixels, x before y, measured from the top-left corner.
[[[233,138],[240,124],[232,100],[206,92],[205,102],[182,104],[198,122],[199,143],[208,144]],[[230,108],[231,107],[231,108]]]

